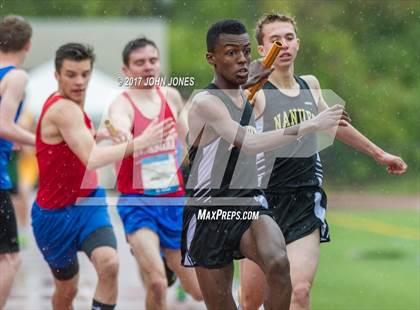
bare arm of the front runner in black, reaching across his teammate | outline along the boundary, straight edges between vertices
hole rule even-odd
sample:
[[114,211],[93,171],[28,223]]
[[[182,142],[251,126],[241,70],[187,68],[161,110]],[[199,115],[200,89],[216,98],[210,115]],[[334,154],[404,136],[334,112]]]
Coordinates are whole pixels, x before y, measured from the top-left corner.
[[251,134],[235,122],[220,99],[199,94],[193,99],[191,113],[200,117],[223,139],[249,154],[273,150],[280,145],[295,141],[299,136],[316,130],[337,126],[342,114],[341,106],[329,108],[312,120],[305,121],[286,129]]

